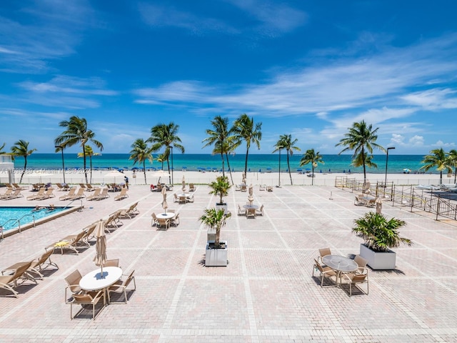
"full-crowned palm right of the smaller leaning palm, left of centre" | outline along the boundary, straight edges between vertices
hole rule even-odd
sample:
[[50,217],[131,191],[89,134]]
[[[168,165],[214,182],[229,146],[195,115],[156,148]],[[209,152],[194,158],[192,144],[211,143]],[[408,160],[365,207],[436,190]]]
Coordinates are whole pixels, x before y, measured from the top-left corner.
[[[184,154],[184,146],[181,145],[181,139],[177,136],[179,125],[171,121],[170,124],[159,124],[151,129],[151,136],[146,140],[146,143],[152,143],[151,151],[158,151],[164,146],[164,156],[166,156],[166,164],[170,174],[170,149],[177,148]],[[171,183],[171,176],[170,176]]]

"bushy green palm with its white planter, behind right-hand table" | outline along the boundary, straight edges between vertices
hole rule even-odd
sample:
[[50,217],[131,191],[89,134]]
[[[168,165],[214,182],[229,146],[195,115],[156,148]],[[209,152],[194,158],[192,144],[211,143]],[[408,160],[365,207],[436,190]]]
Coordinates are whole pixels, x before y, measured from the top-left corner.
[[365,241],[360,245],[360,255],[372,269],[395,269],[396,253],[391,249],[412,244],[411,239],[400,237],[398,229],[406,224],[401,219],[387,219],[383,214],[368,212],[354,223],[352,232]]

